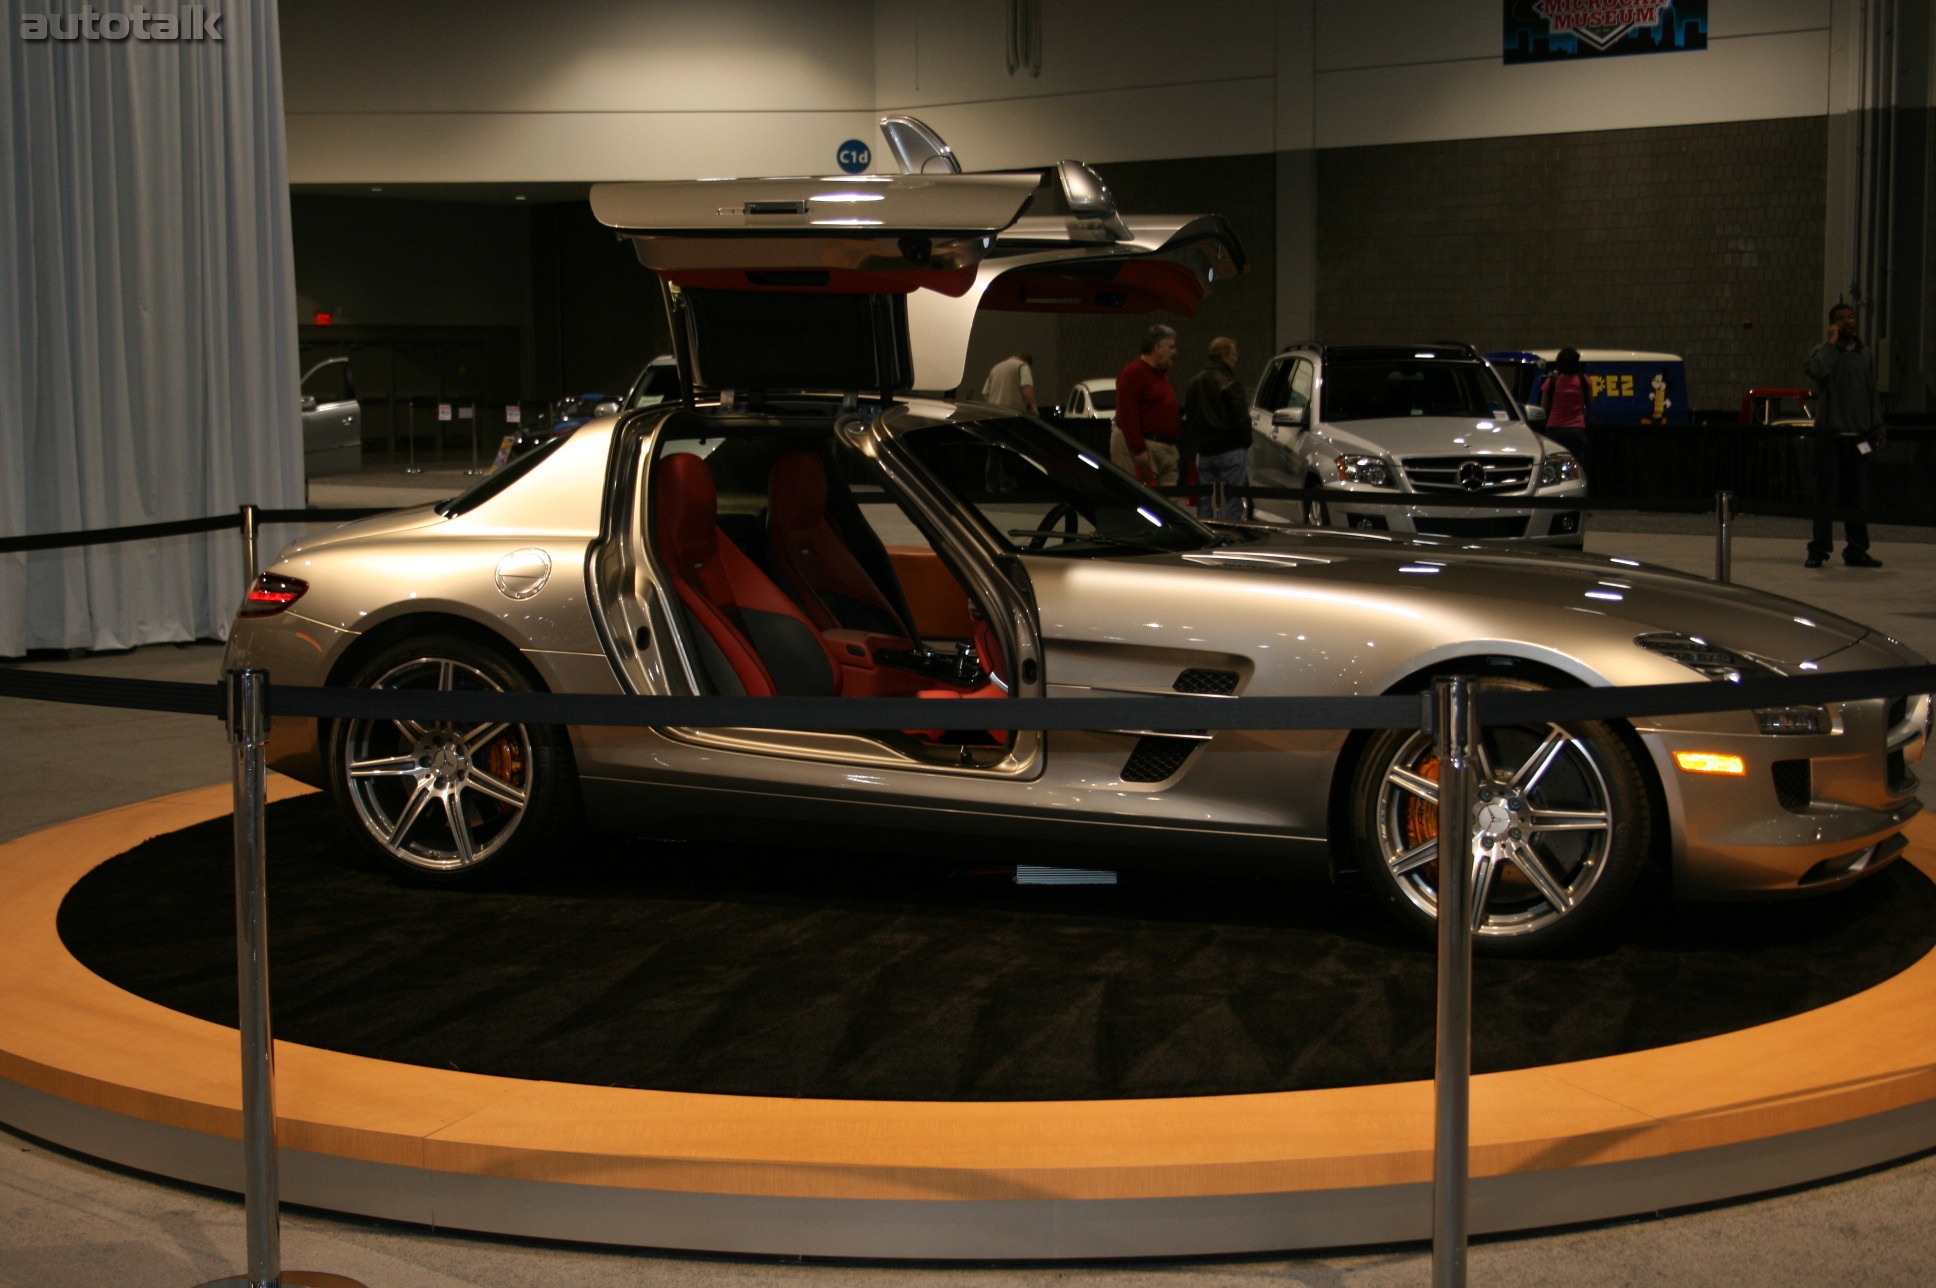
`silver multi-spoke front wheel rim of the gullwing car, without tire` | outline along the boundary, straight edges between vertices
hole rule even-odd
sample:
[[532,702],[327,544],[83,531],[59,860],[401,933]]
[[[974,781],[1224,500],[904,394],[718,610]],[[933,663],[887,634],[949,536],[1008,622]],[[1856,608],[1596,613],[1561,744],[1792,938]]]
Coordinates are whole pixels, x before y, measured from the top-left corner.
[[[1599,730],[1599,726],[1591,726]],[[1560,724],[1485,730],[1477,753],[1471,910],[1483,941],[1549,937],[1562,922],[1597,922],[1630,883],[1628,833],[1640,794],[1632,761],[1605,732]],[[1376,852],[1392,889],[1438,912],[1438,753],[1421,732],[1382,757],[1373,810]],[[1607,874],[1620,875],[1609,879]],[[1605,883],[1607,889],[1601,889]],[[1584,916],[1595,906],[1591,916]]]

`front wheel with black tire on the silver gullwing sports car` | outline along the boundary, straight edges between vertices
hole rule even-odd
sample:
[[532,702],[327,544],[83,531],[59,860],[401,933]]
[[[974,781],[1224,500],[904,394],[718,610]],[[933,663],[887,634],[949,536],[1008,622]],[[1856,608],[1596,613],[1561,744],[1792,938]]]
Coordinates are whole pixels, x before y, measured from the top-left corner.
[[[1483,690],[1539,690],[1487,680]],[[1483,730],[1485,831],[1475,850],[1473,947],[1531,957],[1605,928],[1648,856],[1651,810],[1626,742],[1601,721]],[[1419,934],[1438,928],[1438,753],[1382,730],[1351,777],[1351,848],[1378,899]]]

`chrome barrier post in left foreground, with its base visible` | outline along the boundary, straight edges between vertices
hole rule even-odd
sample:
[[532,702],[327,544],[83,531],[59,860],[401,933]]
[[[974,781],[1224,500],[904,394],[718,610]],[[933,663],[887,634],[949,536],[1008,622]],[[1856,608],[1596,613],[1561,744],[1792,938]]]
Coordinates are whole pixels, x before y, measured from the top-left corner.
[[201,1288],[362,1288],[341,1274],[281,1271],[281,1178],[275,1147],[275,1042],[269,1032],[269,889],[265,775],[269,672],[228,672],[228,744],[234,750],[236,992],[242,1036],[242,1218],[248,1274]]

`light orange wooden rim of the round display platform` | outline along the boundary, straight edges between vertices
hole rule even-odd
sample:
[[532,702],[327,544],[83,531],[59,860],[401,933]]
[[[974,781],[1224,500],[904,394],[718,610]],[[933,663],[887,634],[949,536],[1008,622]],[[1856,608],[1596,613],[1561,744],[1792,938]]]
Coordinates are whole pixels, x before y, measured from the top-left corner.
[[[275,794],[302,790],[279,782]],[[203,788],[0,846],[0,1079],[166,1131],[211,1141],[238,1131],[234,1032],[112,988],[54,934],[60,899],[85,872],[151,835],[227,810],[227,786]],[[1936,872],[1932,843],[1936,823],[1911,823],[1909,858],[1924,872]],[[1789,1139],[1862,1135],[1864,1123],[1891,1116],[1922,1121],[1936,1104],[1936,1027],[1901,1019],[1930,1015],[1932,1003],[1936,955],[1855,997],[1773,1025],[1477,1077],[1473,1176],[1634,1166],[1651,1174],[1677,1156],[1744,1149],[1764,1156],[1766,1170],[1770,1150],[1779,1154]],[[980,1207],[1245,1195],[1320,1201],[1332,1191],[1371,1199],[1371,1191],[1409,1191],[1431,1176],[1429,1083],[937,1104],[523,1083],[294,1044],[279,1044],[277,1067],[287,1150],[339,1168],[414,1172],[426,1185],[470,1176],[567,1183],[581,1197],[631,1189]],[[1830,1154],[1837,1170],[1882,1160]]]

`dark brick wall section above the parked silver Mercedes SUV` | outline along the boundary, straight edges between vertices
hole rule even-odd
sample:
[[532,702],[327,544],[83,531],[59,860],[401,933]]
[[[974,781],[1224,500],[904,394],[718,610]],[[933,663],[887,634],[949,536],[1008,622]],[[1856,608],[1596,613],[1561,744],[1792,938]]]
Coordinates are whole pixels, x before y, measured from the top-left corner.
[[1326,149],[1318,339],[1679,353],[1696,409],[1800,383],[1826,147],[1810,116]]

